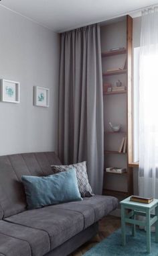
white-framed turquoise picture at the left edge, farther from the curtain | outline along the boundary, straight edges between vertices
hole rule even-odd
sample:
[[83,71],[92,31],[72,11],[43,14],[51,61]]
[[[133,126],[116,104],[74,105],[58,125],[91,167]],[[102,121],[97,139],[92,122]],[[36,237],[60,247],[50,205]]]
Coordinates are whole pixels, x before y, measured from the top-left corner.
[[1,79],[1,101],[19,103],[19,82]]

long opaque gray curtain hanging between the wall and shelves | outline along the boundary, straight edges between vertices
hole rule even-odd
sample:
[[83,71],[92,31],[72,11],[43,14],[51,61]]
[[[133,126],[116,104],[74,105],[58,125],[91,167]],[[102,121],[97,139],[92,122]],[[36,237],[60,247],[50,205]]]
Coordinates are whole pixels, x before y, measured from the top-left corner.
[[94,193],[102,194],[104,125],[100,26],[61,34],[59,157],[64,164],[87,161]]

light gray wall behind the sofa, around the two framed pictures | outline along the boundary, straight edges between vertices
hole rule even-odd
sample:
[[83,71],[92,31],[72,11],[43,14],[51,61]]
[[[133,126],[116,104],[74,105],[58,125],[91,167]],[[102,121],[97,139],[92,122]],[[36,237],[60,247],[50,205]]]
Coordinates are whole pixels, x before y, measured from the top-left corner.
[[[56,151],[59,35],[0,7],[0,78],[20,82],[20,103],[0,102],[0,155]],[[50,108],[33,106],[33,85],[50,88]]]

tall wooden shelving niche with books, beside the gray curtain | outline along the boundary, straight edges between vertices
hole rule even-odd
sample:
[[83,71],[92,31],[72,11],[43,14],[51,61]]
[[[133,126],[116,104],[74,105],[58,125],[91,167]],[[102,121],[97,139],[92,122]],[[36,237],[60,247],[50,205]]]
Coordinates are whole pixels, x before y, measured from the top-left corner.
[[[116,24],[116,26],[118,26]],[[121,26],[121,25],[119,25]],[[101,44],[102,44],[102,79],[103,84],[104,83],[111,83],[112,87],[116,86],[116,80],[123,79],[123,85],[125,87],[125,90],[111,89],[111,91],[104,91],[103,90],[103,97],[104,97],[104,188],[103,188],[103,194],[105,195],[111,195],[116,196],[121,200],[122,198],[125,198],[131,194],[133,194],[133,168],[131,165],[129,165],[129,160],[131,159],[131,109],[129,109],[129,106],[131,104],[131,87],[132,87],[132,33],[133,33],[133,19],[127,15],[125,17],[125,24],[123,24],[124,28],[127,30],[125,31],[125,44],[126,45],[118,45],[120,49],[116,50],[110,50],[115,42],[112,42],[112,46],[109,45],[109,38],[108,42],[106,42],[106,26],[101,29]],[[112,24],[111,28],[114,27]],[[107,31],[109,31],[109,28],[107,28]],[[122,31],[122,30],[121,30]],[[115,33],[116,29],[114,30]],[[111,34],[111,32],[110,32]],[[116,35],[117,37],[117,35]],[[114,36],[112,36],[114,38]],[[118,38],[118,37],[117,37]],[[105,43],[104,41],[105,40]],[[111,39],[112,40],[112,39]],[[120,39],[120,41],[122,38]],[[122,40],[123,42],[123,40]],[[105,45],[105,46],[104,46]],[[109,50],[108,50],[109,47]],[[116,47],[116,44],[115,44]],[[121,56],[123,54],[123,56]],[[118,58],[118,60],[116,59]],[[119,63],[119,61],[124,61],[125,64],[124,68],[116,67],[116,70],[113,68],[115,63]],[[109,59],[109,60],[108,60]],[[112,65],[112,61],[114,62]],[[108,63],[109,66],[108,67]],[[106,67],[106,69],[104,68]],[[111,68],[111,71],[110,71]],[[113,70],[112,70],[113,68]],[[109,70],[109,71],[108,71]],[[117,77],[118,76],[118,77]],[[123,88],[123,87],[122,87]],[[122,89],[121,88],[121,89]],[[107,97],[108,96],[108,97]],[[116,101],[116,103],[115,103]],[[118,114],[115,113],[116,116],[116,122],[117,124],[119,120],[119,115],[121,115],[120,105],[119,102],[124,101],[126,106],[123,110],[125,112],[124,120],[123,118],[121,121],[123,122],[123,126],[121,124],[121,130],[118,132],[113,132],[110,130],[110,126],[108,126],[108,122],[114,123],[114,115],[110,116],[110,112],[113,113],[113,105],[116,107],[114,111],[118,111]],[[109,106],[106,109],[106,104],[109,104]],[[109,110],[109,112],[108,112]],[[105,114],[106,112],[106,114]],[[110,119],[111,118],[111,119]],[[126,136],[126,151],[120,152],[119,150],[119,143],[121,140],[123,140],[123,137]],[[110,142],[112,141],[112,142]],[[115,144],[114,144],[115,142]],[[113,143],[113,144],[112,144]],[[113,146],[113,148],[112,148]],[[118,162],[118,166],[116,166],[116,163]],[[111,166],[114,163],[114,166]],[[106,172],[106,167],[118,167],[118,168],[125,168],[125,173],[110,173]],[[114,181],[112,181],[112,179]],[[125,185],[125,187],[121,187],[121,183]],[[112,185],[111,185],[112,184]],[[110,187],[111,185],[111,187]]]

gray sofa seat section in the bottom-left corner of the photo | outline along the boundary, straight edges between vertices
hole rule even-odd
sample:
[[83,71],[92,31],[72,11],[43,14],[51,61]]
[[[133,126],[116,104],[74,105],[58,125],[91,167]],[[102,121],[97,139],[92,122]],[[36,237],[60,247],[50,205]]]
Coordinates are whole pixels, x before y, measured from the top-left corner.
[[3,256],[31,256],[31,248],[27,241],[15,239],[0,233],[0,255]]

